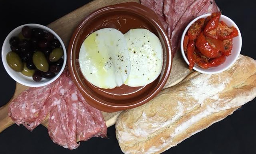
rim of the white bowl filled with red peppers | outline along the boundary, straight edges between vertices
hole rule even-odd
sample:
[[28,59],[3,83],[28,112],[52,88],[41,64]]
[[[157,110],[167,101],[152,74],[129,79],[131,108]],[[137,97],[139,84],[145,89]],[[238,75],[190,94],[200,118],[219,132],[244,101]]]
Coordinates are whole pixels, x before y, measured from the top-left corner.
[[[200,19],[200,18],[206,18],[207,16],[211,16],[211,15],[212,15],[211,13],[208,13],[208,14],[203,14],[203,15],[201,15],[201,16],[198,16],[197,18],[195,18],[194,20],[192,20],[192,21],[187,25],[187,27],[185,28],[185,30],[183,31],[183,34],[182,34],[182,37],[181,37],[180,47],[181,47],[182,57],[184,58],[184,60],[186,61],[186,63],[187,63],[188,65],[189,65],[189,61],[187,60],[187,57],[186,57],[186,55],[185,55],[185,53],[184,53],[184,48],[183,48],[184,37],[185,37],[185,35],[186,35],[188,29],[190,28],[190,26],[191,26],[195,21],[197,21],[197,20]],[[237,36],[237,37],[239,38],[239,42],[241,42],[241,43],[240,43],[240,45],[239,45],[239,48],[238,48],[238,51],[237,51],[237,55],[236,55],[235,59],[234,59],[228,66],[226,66],[225,68],[220,69],[219,71],[205,71],[205,70],[207,70],[207,69],[199,68],[199,67],[198,67],[198,68],[197,68],[197,67],[193,67],[193,69],[194,69],[195,71],[198,71],[198,72],[204,73],[204,74],[216,74],[216,73],[221,73],[221,72],[223,72],[223,71],[226,71],[228,68],[230,68],[230,67],[235,63],[235,61],[237,60],[237,58],[238,58],[239,55],[240,55],[240,52],[241,52],[241,49],[242,49],[242,35],[241,35],[241,32],[240,32],[240,30],[239,30],[237,24],[236,24],[232,19],[230,19],[229,17],[227,17],[227,16],[225,16],[225,15],[221,15],[221,18],[224,18],[224,19],[229,20],[229,21],[232,23],[232,25],[235,26],[235,28],[236,28],[237,31],[238,31],[238,36]]]

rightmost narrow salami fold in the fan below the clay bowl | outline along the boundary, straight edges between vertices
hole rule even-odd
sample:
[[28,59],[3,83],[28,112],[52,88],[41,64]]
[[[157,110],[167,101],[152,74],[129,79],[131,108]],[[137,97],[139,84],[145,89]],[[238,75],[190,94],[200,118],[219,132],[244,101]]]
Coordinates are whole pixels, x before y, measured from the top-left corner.
[[[78,90],[78,89],[77,89]],[[79,96],[79,101],[84,104],[84,107],[87,109],[87,111],[90,113],[90,116],[94,120],[95,123],[97,123],[101,128],[101,132],[97,135],[97,137],[107,137],[107,125],[105,123],[105,120],[103,118],[102,112],[99,111],[98,109],[90,106],[80,93],[80,91],[77,92]]]

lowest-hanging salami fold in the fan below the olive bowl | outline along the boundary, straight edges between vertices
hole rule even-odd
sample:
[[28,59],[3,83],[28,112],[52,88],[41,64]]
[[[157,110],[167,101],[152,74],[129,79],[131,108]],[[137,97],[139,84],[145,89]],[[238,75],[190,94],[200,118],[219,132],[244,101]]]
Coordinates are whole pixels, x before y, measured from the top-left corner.
[[55,106],[50,113],[48,133],[51,140],[54,143],[59,144],[64,148],[68,148],[67,139],[61,126],[60,116],[59,116],[57,106]]

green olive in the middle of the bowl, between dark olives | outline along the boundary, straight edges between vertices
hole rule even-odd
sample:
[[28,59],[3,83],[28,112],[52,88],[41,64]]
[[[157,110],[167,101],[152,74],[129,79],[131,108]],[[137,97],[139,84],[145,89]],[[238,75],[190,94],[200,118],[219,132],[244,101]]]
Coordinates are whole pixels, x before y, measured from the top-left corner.
[[44,56],[44,53],[41,51],[36,51],[33,54],[33,63],[40,71],[47,72],[49,70],[49,64]]

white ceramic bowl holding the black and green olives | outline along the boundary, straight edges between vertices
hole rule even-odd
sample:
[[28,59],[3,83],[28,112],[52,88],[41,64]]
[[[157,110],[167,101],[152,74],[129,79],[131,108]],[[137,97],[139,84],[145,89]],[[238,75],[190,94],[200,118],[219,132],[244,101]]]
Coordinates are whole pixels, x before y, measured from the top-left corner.
[[[61,47],[63,48],[63,51],[64,51],[64,56],[63,56],[64,63],[63,63],[63,66],[62,66],[60,72],[58,74],[56,74],[56,76],[54,76],[53,78],[50,78],[50,79],[42,78],[41,81],[36,82],[32,79],[32,77],[24,76],[23,74],[12,70],[10,68],[10,66],[7,64],[6,55],[9,51],[11,51],[11,47],[10,47],[10,44],[9,44],[9,39],[13,36],[18,36],[18,34],[21,32],[23,26],[29,26],[31,28],[41,28],[44,31],[48,31],[51,34],[53,34],[54,37],[56,39],[58,39],[59,42],[61,43]],[[4,64],[4,68],[7,71],[7,73],[9,74],[9,76],[11,76],[11,78],[13,78],[16,82],[18,82],[22,85],[25,85],[25,86],[29,86],[29,87],[40,87],[40,86],[45,86],[45,85],[48,85],[48,84],[52,83],[53,81],[55,81],[61,75],[61,73],[63,72],[63,70],[65,68],[66,62],[67,62],[67,52],[66,52],[66,48],[64,46],[63,41],[53,30],[49,29],[46,26],[39,25],[39,24],[25,24],[25,25],[21,25],[21,26],[15,28],[14,30],[12,30],[8,34],[8,36],[5,38],[4,44],[3,44],[3,47],[2,47],[2,62]]]

